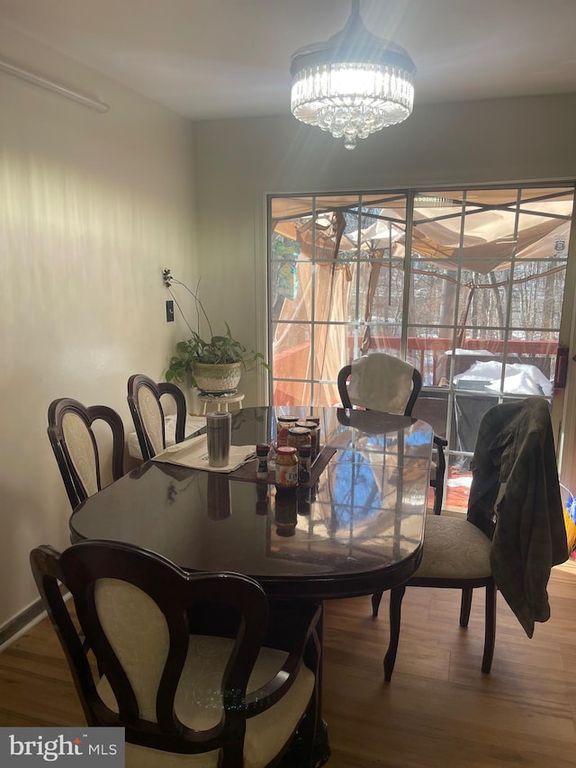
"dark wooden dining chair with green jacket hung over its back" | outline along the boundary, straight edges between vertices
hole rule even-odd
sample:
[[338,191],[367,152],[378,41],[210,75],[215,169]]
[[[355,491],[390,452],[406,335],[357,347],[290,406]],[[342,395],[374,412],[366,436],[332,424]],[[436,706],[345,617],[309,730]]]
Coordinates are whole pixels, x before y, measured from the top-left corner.
[[[548,402],[529,397],[494,405],[478,430],[466,520],[428,515],[419,569],[391,592],[384,679],[392,677],[406,587],[462,590],[461,627],[468,626],[473,590],[486,590],[482,672],[490,673],[497,588],[532,637],[534,622],[550,617],[550,569],[567,556]],[[374,595],[374,616],[379,602]]]

